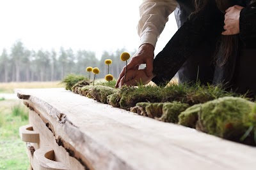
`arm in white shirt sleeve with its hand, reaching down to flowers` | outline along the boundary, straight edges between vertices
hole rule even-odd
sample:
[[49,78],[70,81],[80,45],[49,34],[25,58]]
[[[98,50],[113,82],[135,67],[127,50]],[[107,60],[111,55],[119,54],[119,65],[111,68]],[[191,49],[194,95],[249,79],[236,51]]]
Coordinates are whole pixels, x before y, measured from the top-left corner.
[[[124,67],[116,81],[115,87],[122,87],[125,81],[125,70],[136,72],[140,64],[146,64],[145,73],[152,76],[154,49],[157,38],[164,29],[168,16],[175,10],[177,3],[175,0],[143,0],[140,5],[140,20],[138,22],[138,34],[140,36],[140,47],[131,61]],[[136,85],[136,84],[135,84]]]

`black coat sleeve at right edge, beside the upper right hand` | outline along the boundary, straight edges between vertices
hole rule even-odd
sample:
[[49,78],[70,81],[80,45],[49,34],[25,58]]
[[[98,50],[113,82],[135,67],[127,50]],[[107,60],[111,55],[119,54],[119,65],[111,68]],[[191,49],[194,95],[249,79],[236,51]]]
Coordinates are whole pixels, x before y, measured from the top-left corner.
[[256,7],[248,6],[240,12],[240,38],[246,48],[255,48],[256,45]]

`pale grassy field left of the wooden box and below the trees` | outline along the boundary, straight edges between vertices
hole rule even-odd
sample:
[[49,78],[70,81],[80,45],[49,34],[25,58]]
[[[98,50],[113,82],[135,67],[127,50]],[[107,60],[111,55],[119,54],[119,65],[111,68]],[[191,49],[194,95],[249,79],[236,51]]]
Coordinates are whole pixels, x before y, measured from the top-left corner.
[[[63,87],[55,82],[0,83],[0,94],[14,89]],[[28,124],[28,108],[17,99],[0,98],[0,169],[26,170],[29,160],[26,143],[19,137],[19,127]]]

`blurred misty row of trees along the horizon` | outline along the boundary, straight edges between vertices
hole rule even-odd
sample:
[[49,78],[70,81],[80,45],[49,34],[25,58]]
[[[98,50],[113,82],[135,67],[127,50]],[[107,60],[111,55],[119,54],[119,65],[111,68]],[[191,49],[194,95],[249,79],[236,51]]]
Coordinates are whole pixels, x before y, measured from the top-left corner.
[[[10,49],[10,53],[5,48],[0,55],[0,82],[10,81],[60,81],[68,73],[84,74],[88,76],[86,67],[99,67],[100,74],[97,78],[104,78],[108,74],[106,59],[111,59],[109,74],[118,78],[120,71],[125,66],[125,62],[120,60],[120,54],[128,52],[125,48],[118,49],[114,53],[103,52],[101,59],[95,57],[95,52],[78,50],[74,52],[72,48],[60,51],[56,50],[28,50],[22,41],[17,41]],[[129,52],[134,55],[136,50]]]

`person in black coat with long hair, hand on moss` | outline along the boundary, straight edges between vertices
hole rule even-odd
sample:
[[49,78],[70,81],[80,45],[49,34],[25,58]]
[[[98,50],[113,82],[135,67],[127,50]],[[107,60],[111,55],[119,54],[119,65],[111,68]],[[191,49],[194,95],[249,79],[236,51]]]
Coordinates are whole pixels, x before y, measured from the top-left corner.
[[[255,10],[255,0],[204,0],[157,54],[153,74],[148,75],[144,69],[128,69],[127,81],[121,72],[116,85],[136,85],[138,81],[148,83],[150,80],[157,85],[164,84],[172,79],[186,60],[202,50],[200,45],[214,39],[215,43],[211,45],[215,62],[212,83],[225,83],[241,93],[247,90],[256,92],[256,77],[252,75],[256,61]],[[211,60],[212,56],[204,55]]]

